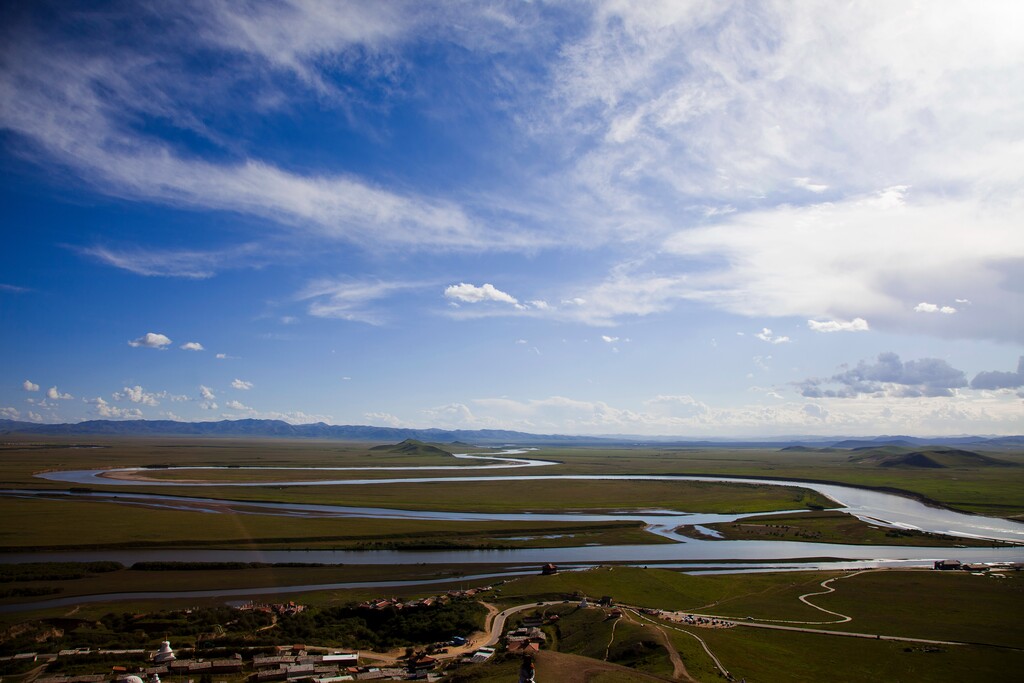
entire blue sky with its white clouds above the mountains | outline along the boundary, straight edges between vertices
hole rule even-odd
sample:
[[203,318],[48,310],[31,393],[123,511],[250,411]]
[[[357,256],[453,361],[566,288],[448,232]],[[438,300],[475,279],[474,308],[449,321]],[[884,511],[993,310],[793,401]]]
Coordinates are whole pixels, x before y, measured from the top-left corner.
[[0,415],[1024,432],[1022,24],[7,3]]

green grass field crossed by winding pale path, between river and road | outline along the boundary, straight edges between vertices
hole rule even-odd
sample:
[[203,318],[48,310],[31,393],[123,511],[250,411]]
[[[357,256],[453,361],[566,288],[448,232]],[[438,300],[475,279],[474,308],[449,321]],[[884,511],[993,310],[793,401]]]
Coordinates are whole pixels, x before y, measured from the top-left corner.
[[500,600],[511,605],[610,595],[624,604],[737,620],[830,622],[838,617],[798,598],[823,591],[820,583],[837,578],[831,584],[835,593],[810,600],[853,621],[813,628],[1024,647],[1024,624],[1018,618],[1024,613],[1024,577],[1019,572],[1007,577],[902,569],[689,575],[668,569],[601,567],[517,579],[502,587]]

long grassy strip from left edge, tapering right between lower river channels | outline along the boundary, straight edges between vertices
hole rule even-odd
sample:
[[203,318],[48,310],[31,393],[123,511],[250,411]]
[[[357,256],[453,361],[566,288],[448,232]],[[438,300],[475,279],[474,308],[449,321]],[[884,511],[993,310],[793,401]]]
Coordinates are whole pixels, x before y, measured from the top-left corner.
[[[544,548],[669,543],[636,522],[451,522],[162,510],[0,499],[0,550],[103,548]],[[68,520],[76,520],[69,524]],[[553,538],[545,538],[553,537]],[[512,540],[526,539],[526,540]]]

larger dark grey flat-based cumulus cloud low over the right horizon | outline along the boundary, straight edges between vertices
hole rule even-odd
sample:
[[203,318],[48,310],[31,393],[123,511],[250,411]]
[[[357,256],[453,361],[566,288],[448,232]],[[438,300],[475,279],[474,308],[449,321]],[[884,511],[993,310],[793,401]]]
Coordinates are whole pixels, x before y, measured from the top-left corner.
[[919,398],[952,396],[954,389],[968,386],[968,382],[963,371],[942,358],[903,362],[896,353],[884,352],[874,362],[861,360],[855,368],[829,378],[807,379],[798,386],[809,398],[852,398],[861,394]]

